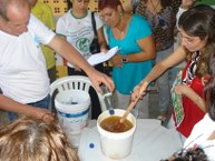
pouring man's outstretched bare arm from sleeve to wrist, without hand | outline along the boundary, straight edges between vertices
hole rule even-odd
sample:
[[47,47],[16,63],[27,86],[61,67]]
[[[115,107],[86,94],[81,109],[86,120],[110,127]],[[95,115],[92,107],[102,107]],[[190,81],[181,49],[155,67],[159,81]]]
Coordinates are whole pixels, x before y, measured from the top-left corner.
[[49,46],[70,63],[84,70],[87,74],[89,74],[90,71],[94,70],[94,67],[91,67],[71,44],[69,44],[59,36],[56,36],[51,40]]

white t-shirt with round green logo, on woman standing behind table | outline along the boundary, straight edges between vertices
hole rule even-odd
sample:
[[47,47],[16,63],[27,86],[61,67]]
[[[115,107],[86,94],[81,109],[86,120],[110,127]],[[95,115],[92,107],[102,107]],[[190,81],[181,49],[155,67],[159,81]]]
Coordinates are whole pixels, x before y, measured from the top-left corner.
[[[58,19],[56,32],[66,37],[67,41],[87,60],[91,56],[89,46],[94,39],[91,12],[88,10],[86,17],[78,19],[71,14],[71,10]],[[102,27],[102,21],[97,13],[95,20],[98,30]],[[67,62],[67,64],[72,68],[71,63]]]

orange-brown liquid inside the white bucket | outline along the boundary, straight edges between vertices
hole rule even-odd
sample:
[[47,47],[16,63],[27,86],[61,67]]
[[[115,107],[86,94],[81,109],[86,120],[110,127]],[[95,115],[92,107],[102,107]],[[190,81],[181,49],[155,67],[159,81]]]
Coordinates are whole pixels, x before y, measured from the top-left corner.
[[106,118],[100,122],[100,127],[109,132],[125,132],[133,128],[133,123],[129,120],[125,120],[124,123],[120,123],[119,120],[121,117],[111,115]]

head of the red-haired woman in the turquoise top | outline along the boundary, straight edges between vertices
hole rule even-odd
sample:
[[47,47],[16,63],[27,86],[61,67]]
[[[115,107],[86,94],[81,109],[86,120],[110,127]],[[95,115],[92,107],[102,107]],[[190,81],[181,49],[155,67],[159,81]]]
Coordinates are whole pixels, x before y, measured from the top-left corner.
[[120,0],[99,0],[98,10],[100,11],[100,18],[110,27],[116,27],[123,17]]

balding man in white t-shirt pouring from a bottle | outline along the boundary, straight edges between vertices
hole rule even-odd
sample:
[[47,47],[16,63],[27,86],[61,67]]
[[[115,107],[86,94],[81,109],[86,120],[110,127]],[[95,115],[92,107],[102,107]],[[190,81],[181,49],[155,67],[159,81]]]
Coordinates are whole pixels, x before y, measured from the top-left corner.
[[[0,109],[36,117],[45,121],[53,119],[47,110],[49,79],[40,43],[47,44],[72,64],[84,70],[95,88],[105,83],[114,90],[113,80],[96,71],[66,40],[48,29],[30,14],[26,0],[0,0]],[[25,104],[42,102],[41,108]],[[46,104],[46,105],[45,105]]]

